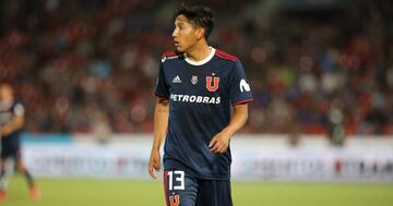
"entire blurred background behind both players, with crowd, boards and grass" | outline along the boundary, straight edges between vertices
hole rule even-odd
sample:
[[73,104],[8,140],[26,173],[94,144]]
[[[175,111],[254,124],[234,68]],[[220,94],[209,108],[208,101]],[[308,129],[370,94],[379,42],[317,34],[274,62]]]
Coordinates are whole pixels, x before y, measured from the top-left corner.
[[[148,180],[160,53],[180,1],[1,0],[0,81],[27,113],[1,205],[164,205]],[[210,44],[237,56],[250,118],[231,143],[234,202],[392,205],[393,3],[199,0]]]

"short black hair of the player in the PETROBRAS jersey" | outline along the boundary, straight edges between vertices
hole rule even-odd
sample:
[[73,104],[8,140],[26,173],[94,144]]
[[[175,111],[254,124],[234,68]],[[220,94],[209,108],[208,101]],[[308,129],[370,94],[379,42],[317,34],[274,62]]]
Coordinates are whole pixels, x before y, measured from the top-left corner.
[[174,17],[176,19],[181,14],[184,15],[191,24],[203,27],[205,29],[205,38],[207,39],[214,26],[214,12],[212,9],[204,5],[191,5],[183,1],[175,12]]

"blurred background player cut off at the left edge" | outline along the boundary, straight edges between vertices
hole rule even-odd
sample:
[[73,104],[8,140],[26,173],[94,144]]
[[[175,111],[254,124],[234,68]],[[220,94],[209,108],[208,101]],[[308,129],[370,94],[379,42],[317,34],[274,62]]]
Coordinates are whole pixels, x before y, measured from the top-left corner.
[[26,170],[21,156],[20,133],[24,124],[24,107],[14,100],[10,84],[0,84],[0,201],[5,199],[5,168],[9,158],[14,159],[16,169],[25,175],[29,187],[29,195],[38,199],[40,194],[34,180]]

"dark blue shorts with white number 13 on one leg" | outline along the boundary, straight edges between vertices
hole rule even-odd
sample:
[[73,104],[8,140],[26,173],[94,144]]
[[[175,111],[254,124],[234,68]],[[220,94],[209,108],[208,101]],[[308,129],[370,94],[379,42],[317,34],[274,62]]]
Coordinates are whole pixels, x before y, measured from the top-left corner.
[[181,170],[164,171],[167,206],[231,206],[230,180],[205,180]]

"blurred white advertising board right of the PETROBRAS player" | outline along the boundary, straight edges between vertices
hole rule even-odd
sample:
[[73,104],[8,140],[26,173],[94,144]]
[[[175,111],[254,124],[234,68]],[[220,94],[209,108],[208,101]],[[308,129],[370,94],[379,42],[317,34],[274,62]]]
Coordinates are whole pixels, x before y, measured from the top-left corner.
[[[373,140],[374,141],[374,140]],[[241,180],[392,181],[392,140],[352,140],[332,146],[306,138],[290,146],[283,140],[243,140],[233,149],[233,175]],[[257,142],[257,143],[255,143]],[[258,146],[257,146],[258,145]]]

